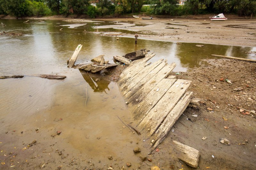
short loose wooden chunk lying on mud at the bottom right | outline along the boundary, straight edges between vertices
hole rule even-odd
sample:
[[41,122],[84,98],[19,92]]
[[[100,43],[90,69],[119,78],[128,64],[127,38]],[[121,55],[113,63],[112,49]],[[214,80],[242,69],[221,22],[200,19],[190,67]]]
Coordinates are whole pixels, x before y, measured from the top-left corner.
[[173,144],[175,144],[174,150],[177,152],[178,158],[185,162],[188,166],[197,168],[200,157],[199,151],[185,144],[181,144],[180,142],[177,142],[175,140],[173,140],[172,142]]

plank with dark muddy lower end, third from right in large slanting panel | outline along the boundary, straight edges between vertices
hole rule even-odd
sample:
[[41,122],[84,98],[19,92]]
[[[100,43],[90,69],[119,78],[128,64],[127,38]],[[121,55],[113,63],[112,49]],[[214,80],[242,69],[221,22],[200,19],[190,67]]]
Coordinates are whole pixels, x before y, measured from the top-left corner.
[[129,101],[132,103],[128,106],[132,110],[134,122],[140,123],[176,80],[164,78],[144,98],[138,101],[136,101],[137,98],[132,98],[132,101]]

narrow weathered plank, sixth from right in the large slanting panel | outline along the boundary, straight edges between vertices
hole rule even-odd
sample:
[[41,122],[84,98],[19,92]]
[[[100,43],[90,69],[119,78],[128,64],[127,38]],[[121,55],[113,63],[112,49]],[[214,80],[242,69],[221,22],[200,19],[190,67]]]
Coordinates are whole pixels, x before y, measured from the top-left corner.
[[[142,70],[140,70],[134,77],[130,78],[129,80],[127,80],[125,83],[120,84],[120,90],[123,91],[124,89],[127,88],[132,88],[134,81],[138,82],[141,80],[141,78],[145,77],[149,72],[151,72],[152,70],[154,70],[159,64],[162,63],[164,59],[160,59],[158,61],[156,61],[155,63],[152,63],[146,67],[144,67]],[[130,86],[130,84],[132,84]]]

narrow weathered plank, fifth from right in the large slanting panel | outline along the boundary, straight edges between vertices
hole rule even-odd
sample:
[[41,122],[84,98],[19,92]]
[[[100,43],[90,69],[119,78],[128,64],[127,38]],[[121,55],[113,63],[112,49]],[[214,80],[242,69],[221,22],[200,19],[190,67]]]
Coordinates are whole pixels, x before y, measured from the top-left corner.
[[163,62],[163,63],[160,63],[156,68],[154,68],[153,70],[151,70],[150,72],[148,72],[148,74],[145,74],[145,76],[144,75],[140,75],[136,80],[137,81],[132,81],[130,84],[129,84],[129,86],[127,86],[128,88],[127,89],[124,89],[124,91],[123,91],[123,95],[124,95],[124,97],[125,97],[125,94],[127,93],[127,92],[133,92],[134,93],[134,91],[136,91],[136,90],[138,90],[139,89],[139,87],[141,86],[141,85],[144,85],[145,83],[147,83],[148,82],[148,80],[150,80],[152,77],[154,77],[162,68],[164,68],[164,66],[166,66],[167,65],[167,63],[166,63],[166,61],[165,62]]

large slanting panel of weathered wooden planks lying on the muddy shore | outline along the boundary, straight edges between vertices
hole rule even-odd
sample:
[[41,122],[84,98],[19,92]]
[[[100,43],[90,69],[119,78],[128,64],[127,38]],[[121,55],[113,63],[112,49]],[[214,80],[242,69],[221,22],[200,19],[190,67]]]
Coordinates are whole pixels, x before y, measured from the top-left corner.
[[118,85],[130,108],[132,125],[145,137],[152,137],[155,148],[186,109],[193,92],[187,92],[191,81],[169,75],[175,63],[147,63],[154,55],[131,62],[120,75]]

